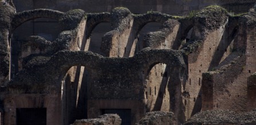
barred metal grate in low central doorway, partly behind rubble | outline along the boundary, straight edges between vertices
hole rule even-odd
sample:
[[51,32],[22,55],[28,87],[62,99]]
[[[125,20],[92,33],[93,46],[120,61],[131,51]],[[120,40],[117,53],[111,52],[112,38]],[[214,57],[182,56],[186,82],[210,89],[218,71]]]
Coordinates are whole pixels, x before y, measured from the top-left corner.
[[117,114],[122,119],[121,125],[131,125],[131,109],[103,109],[103,114]]

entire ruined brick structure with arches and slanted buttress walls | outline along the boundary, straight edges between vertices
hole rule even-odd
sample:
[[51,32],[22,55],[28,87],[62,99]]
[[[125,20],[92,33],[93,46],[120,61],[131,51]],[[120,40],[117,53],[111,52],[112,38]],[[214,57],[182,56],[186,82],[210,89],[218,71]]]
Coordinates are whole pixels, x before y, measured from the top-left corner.
[[[57,101],[48,105],[56,104],[58,113],[49,114],[58,115],[51,120],[61,124],[97,118],[106,109],[130,110],[132,124],[148,111],[172,111],[175,124],[184,123],[201,109],[245,111],[246,78],[255,71],[254,13],[234,16],[219,6],[183,17],[160,12],[132,14],[124,7],[99,14],[45,9],[20,12],[11,22],[11,32],[36,18],[56,19],[62,29],[55,40],[31,36],[29,44],[21,45],[22,66],[3,86],[7,94],[2,95],[7,95],[6,100],[17,94],[21,98],[55,96]],[[112,27],[97,47],[99,55],[88,50],[90,36],[102,22]],[[160,28],[138,40],[150,22]],[[202,76],[203,72],[208,73]],[[11,109],[38,107],[13,105],[18,102],[13,99]],[[10,120],[5,122],[15,123],[14,111],[8,111],[5,117]]]

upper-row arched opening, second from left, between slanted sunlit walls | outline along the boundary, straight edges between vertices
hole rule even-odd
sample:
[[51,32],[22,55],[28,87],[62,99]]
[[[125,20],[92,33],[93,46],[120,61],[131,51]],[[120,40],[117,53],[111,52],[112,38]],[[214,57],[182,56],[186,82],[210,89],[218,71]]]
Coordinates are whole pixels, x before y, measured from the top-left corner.
[[97,24],[97,26],[93,29],[92,33],[90,34],[89,40],[87,40],[89,41],[89,43],[86,43],[88,49],[85,49],[85,51],[88,50],[102,55],[100,51],[101,41],[103,36],[109,31],[111,31],[111,23],[103,22]]

